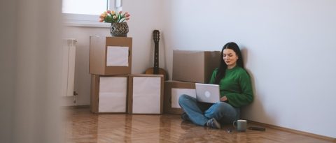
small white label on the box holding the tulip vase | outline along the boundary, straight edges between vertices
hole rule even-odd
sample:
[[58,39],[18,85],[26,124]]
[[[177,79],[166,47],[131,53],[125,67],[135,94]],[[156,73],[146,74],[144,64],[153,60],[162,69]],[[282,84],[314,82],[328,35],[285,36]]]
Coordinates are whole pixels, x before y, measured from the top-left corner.
[[128,66],[129,47],[107,46],[106,66]]

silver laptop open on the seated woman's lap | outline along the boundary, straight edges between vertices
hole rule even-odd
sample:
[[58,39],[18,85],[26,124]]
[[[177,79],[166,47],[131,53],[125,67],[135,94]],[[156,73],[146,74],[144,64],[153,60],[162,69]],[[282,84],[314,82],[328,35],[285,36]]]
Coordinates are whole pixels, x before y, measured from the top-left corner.
[[195,83],[196,99],[202,103],[218,103],[221,102],[219,85],[217,84],[200,84]]

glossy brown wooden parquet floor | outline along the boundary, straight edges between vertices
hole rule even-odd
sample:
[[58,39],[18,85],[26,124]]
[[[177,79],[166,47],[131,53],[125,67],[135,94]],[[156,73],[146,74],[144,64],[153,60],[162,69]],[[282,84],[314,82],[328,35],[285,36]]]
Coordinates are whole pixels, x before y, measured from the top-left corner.
[[66,142],[333,142],[274,128],[228,133],[232,126],[196,126],[177,114],[92,114],[88,108],[66,112]]

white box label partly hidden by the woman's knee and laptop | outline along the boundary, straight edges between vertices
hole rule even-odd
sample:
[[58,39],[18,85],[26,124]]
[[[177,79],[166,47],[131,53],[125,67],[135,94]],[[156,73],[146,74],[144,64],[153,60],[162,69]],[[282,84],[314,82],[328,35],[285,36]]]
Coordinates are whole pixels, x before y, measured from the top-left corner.
[[193,98],[196,98],[196,90],[195,89],[174,89],[172,88],[172,107],[181,108],[179,105],[179,98],[182,94],[186,94]]

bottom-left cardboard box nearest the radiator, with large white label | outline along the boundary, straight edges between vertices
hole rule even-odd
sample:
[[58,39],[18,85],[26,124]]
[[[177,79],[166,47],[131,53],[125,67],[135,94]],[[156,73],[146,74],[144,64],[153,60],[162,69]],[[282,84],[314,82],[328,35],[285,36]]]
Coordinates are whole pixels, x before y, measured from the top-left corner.
[[127,111],[127,83],[127,75],[91,75],[91,112],[125,113]]

